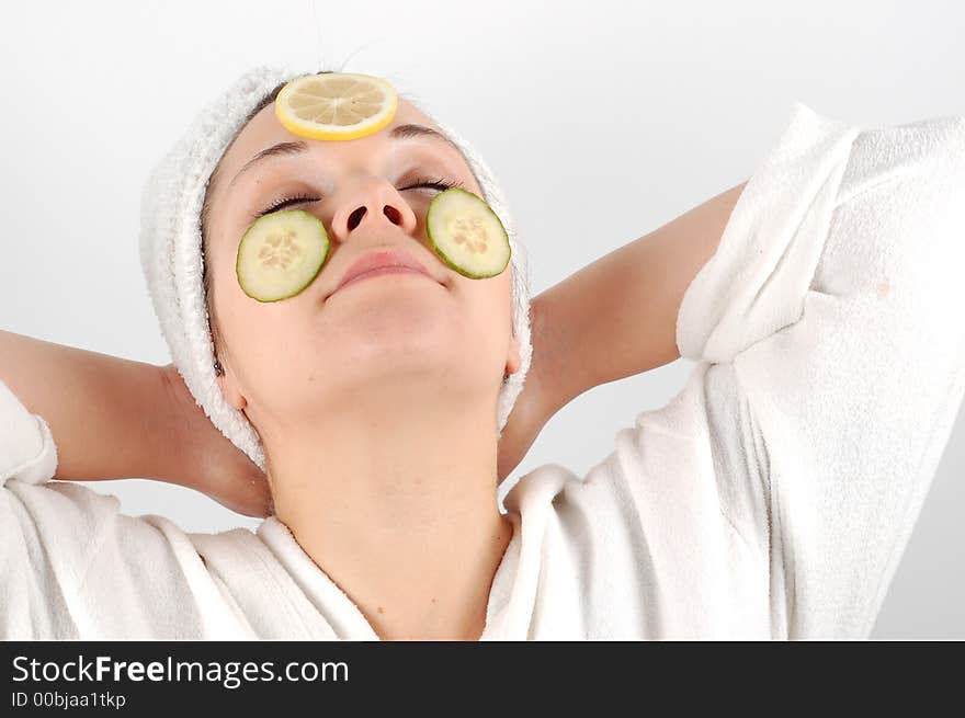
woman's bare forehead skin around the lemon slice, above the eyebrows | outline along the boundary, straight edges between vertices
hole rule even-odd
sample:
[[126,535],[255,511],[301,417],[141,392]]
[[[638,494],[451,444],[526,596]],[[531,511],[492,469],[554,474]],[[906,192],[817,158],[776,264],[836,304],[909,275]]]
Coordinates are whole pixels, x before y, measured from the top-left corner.
[[372,135],[349,140],[310,139],[295,135],[285,128],[275,115],[275,103],[272,102],[262,107],[241,129],[227,152],[225,152],[219,164],[222,172],[234,174],[234,172],[240,169],[248,159],[262,149],[277,143],[295,140],[308,143],[309,146],[328,145],[332,148],[340,148],[339,146],[352,145],[353,150],[375,149],[379,144],[383,144],[384,146],[384,144],[389,141],[389,133],[395,127],[410,123],[427,125],[434,129],[440,129],[439,125],[436,125],[429,115],[419,110],[419,107],[408,100],[399,98],[398,109],[396,110],[393,121]]

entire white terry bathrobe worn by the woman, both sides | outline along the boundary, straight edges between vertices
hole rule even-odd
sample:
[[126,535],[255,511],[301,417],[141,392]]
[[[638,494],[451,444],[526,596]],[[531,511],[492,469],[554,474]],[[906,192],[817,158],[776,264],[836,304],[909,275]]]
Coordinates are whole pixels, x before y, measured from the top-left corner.
[[[684,295],[685,388],[507,495],[483,638],[866,637],[965,392],[963,272],[965,117],[795,103]],[[277,518],[185,533],[56,461],[0,383],[0,638],[377,639]]]

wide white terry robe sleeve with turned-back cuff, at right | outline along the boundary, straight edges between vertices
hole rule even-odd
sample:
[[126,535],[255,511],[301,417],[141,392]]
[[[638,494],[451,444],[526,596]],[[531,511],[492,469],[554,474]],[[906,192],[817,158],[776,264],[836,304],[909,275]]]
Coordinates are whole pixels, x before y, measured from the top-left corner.
[[772,635],[866,637],[965,392],[965,117],[795,103],[678,316]]

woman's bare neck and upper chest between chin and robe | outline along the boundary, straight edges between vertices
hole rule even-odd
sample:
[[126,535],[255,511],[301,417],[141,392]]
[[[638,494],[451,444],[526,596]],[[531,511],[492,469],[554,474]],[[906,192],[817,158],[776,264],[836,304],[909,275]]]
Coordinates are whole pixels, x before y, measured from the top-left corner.
[[513,531],[497,503],[495,419],[372,403],[269,446],[276,516],[381,638],[476,640]]

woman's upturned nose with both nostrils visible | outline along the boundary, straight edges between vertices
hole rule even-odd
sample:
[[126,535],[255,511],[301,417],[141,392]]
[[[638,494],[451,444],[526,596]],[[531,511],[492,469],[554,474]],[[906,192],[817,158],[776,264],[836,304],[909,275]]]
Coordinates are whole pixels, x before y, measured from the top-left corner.
[[411,235],[418,220],[409,203],[385,180],[367,178],[361,180],[339,204],[332,216],[331,230],[341,243],[349,241],[361,229],[366,232],[395,226]]

